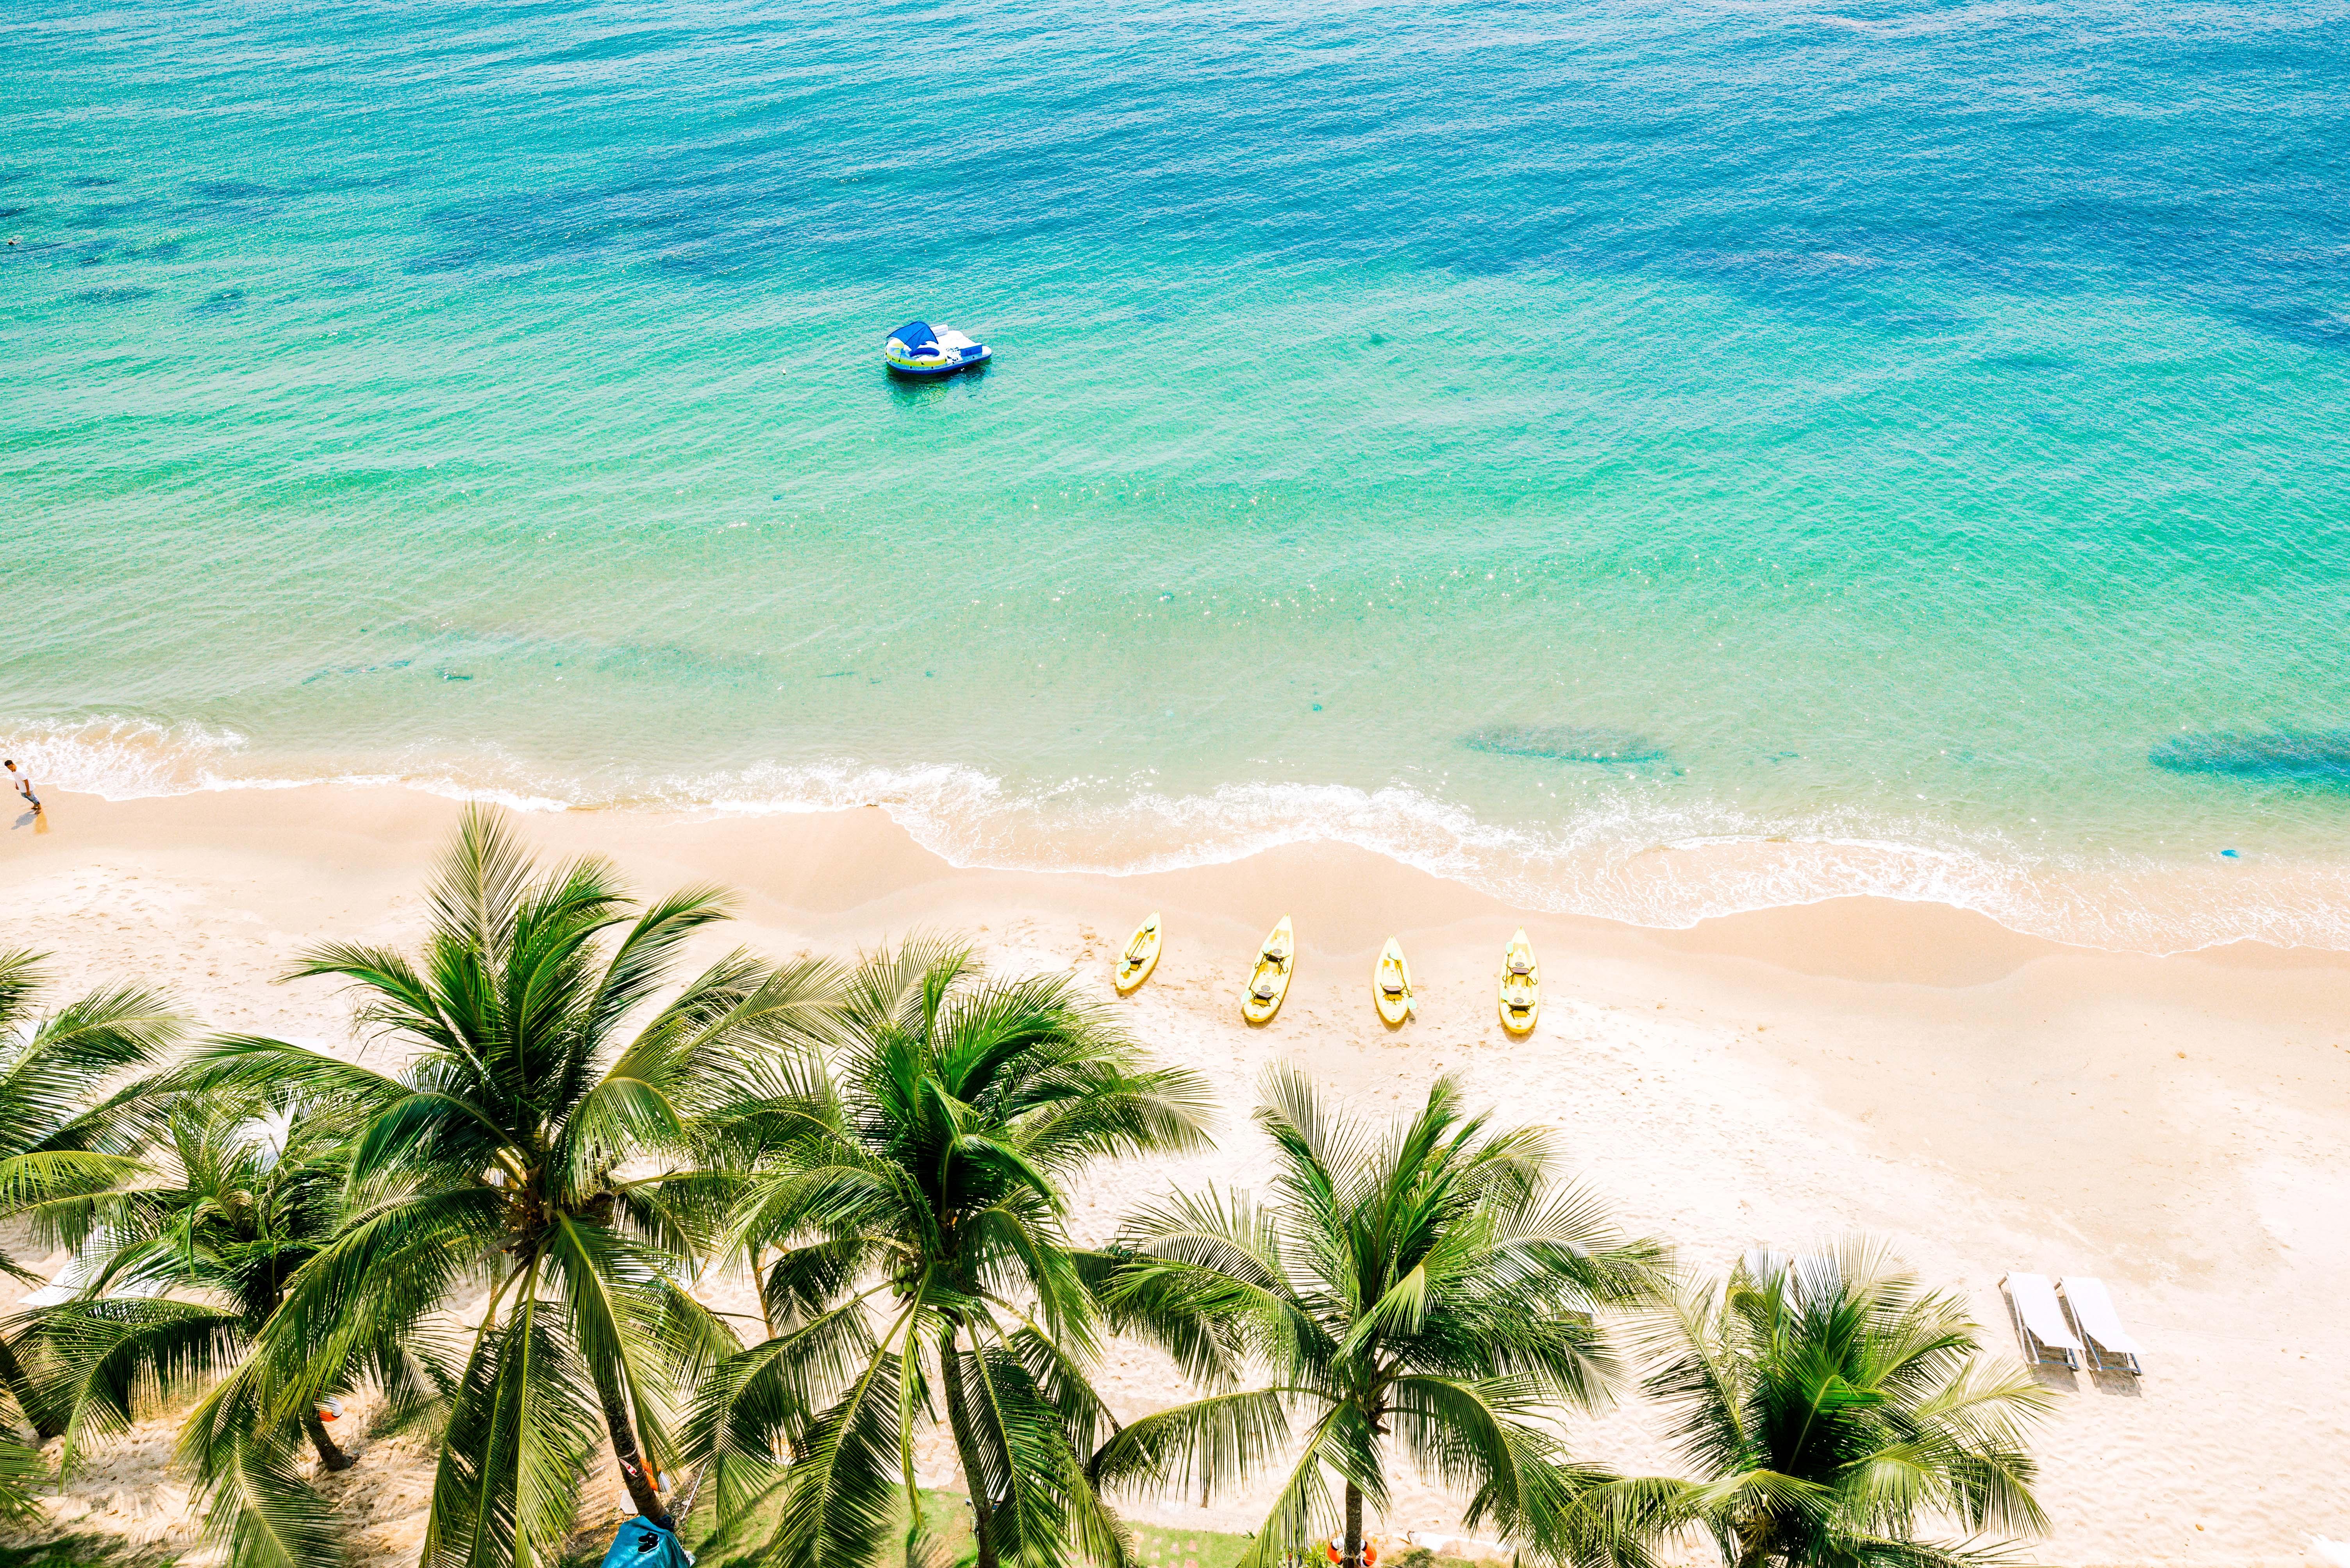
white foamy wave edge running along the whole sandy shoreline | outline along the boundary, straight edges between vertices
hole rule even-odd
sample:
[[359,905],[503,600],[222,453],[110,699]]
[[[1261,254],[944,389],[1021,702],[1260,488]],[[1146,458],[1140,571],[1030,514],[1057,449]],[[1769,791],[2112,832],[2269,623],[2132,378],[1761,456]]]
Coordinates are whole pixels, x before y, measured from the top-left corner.
[[1074,779],[1022,791],[954,763],[771,763],[599,784],[498,751],[261,756],[228,730],[139,718],[16,723],[0,749],[45,786],[110,800],[374,784],[515,810],[768,815],[879,805],[956,866],[1135,876],[1295,843],[1347,843],[1523,908],[1650,927],[1875,894],[1950,904],[2019,932],[2117,951],[2169,953],[2240,939],[2350,948],[2350,869],[2336,864],[2052,857],[1929,817],[1824,812],[1767,822],[1718,800],[1659,805],[1631,791],[1579,805],[1558,824],[1506,826],[1408,786],[1227,784],[1166,793]]

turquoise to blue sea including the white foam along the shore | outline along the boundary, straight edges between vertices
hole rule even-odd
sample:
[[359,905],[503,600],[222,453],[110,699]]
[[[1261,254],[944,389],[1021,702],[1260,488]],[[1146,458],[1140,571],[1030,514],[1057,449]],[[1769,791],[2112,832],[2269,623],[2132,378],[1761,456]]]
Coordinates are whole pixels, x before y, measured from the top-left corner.
[[0,38],[54,784],[2350,946],[2341,2]]

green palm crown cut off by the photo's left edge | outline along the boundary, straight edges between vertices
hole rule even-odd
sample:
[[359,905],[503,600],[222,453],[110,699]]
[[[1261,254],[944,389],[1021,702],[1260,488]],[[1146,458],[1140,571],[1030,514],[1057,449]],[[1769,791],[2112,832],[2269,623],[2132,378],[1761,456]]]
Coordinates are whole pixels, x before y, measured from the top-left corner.
[[[35,1014],[47,991],[42,953],[0,953],[0,1216],[31,1214],[35,1237],[59,1239],[78,1199],[134,1176],[136,1148],[153,1129],[150,1106],[129,1070],[176,1045],[188,1019],[160,991],[108,986]],[[0,1270],[35,1282],[0,1251]],[[59,1425],[26,1371],[0,1347],[0,1383],[42,1439]]]

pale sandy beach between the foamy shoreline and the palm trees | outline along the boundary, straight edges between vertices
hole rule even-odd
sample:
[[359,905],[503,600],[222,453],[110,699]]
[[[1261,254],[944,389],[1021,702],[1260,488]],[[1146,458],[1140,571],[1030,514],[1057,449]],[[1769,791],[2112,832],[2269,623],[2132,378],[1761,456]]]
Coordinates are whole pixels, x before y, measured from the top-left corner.
[[[56,796],[49,833],[19,822],[7,836],[0,944],[54,953],[68,986],[169,984],[209,1028],[355,1049],[329,986],[273,979],[317,939],[411,939],[456,810],[341,786]],[[1457,1073],[1473,1106],[1556,1129],[1567,1167],[1629,1228],[1697,1268],[1755,1244],[1882,1237],[1927,1282],[1965,1291],[1998,1354],[2014,1354],[2007,1270],[2101,1275],[2146,1345],[2146,1378],[2040,1371],[2059,1399],[2037,1439],[2054,1516],[2037,1561],[2310,1563],[2312,1535],[2350,1537],[2350,955],[2113,955],[1880,899],[1652,932],[1525,915],[1332,845],[1133,878],[959,871],[881,810],[566,812],[522,831],[548,852],[609,854],[642,890],[738,887],[724,941],[773,955],[966,932],[999,967],[1074,969],[1107,993],[1126,932],[1163,911],[1166,955],[1123,1007],[1152,1049],[1220,1087],[1220,1145],[1102,1171],[1076,1199],[1088,1235],[1170,1181],[1257,1176],[1246,1113],[1267,1063],[1300,1063],[1372,1113]],[[1236,993],[1281,913],[1297,920],[1300,976],[1281,1019],[1250,1030]],[[1513,1042],[1492,976],[1520,922],[1546,1005]],[[1401,1030],[1365,995],[1389,934],[1419,981]],[[740,1310],[747,1296],[721,1286],[712,1300]],[[1104,1387],[1126,1415],[1180,1397],[1133,1350],[1109,1357]],[[1633,1399],[1577,1432],[1603,1462],[1671,1462]],[[411,1563],[425,1460],[355,1446],[336,1491],[357,1556]],[[143,1422],[59,1516],[186,1537],[167,1448],[169,1418]],[[938,1446],[928,1462],[952,1474]],[[1135,1512],[1253,1523],[1246,1505]],[[1436,1488],[1403,1486],[1386,1526],[1452,1521]]]

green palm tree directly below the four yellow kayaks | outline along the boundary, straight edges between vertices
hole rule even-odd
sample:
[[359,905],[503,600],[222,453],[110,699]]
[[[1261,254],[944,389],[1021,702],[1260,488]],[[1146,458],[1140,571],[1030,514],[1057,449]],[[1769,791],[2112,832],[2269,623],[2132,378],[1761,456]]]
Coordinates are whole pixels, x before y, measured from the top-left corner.
[[[1466,1493],[1471,1528],[1535,1554],[1622,1549],[1582,1507],[1605,1476],[1574,1465],[1551,1408],[1598,1406],[1614,1378],[1593,1324],[1659,1265],[1593,1199],[1549,1181],[1535,1131],[1488,1131],[1441,1077],[1384,1136],[1335,1120],[1292,1070],[1267,1077],[1274,1202],[1175,1195],[1121,1235],[1114,1324],[1163,1345],[1213,1394],[1133,1422],[1095,1458],[1102,1483],[1182,1486],[1201,1502],[1302,1448],[1241,1559],[1271,1568],[1386,1505],[1389,1439]],[[1262,1366],[1267,1383],[1238,1387]],[[1332,1507],[1330,1481],[1342,1500]]]

